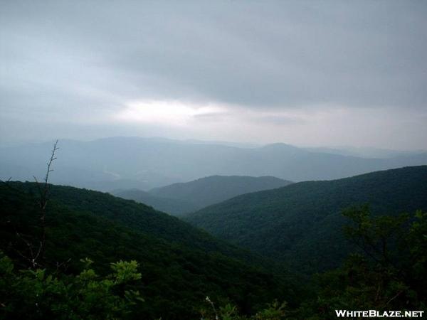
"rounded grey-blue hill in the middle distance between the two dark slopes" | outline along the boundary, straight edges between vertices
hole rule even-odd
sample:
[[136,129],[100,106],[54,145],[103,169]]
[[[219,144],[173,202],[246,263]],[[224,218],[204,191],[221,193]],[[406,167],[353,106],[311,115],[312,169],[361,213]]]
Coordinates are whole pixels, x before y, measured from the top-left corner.
[[280,188],[290,183],[273,176],[208,176],[154,188],[149,193],[192,203],[196,209],[201,209],[244,193]]

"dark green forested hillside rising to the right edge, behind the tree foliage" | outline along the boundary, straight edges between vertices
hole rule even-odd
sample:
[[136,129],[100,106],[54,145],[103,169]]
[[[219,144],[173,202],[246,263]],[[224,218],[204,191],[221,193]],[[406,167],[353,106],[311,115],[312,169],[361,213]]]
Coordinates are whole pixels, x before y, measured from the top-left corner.
[[342,235],[341,211],[363,203],[375,214],[427,210],[427,166],[292,183],[232,198],[185,219],[219,238],[312,272],[336,267],[353,250]]

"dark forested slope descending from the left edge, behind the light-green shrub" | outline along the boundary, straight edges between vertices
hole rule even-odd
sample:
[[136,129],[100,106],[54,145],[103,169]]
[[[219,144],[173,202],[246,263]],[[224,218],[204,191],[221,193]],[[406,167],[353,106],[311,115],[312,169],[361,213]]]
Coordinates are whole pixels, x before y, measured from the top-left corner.
[[[0,185],[0,249],[24,267],[21,239],[35,242],[40,231],[37,189],[35,183],[8,184]],[[71,259],[67,272],[73,273],[83,257],[95,260],[101,274],[120,259],[140,263],[137,289],[146,302],[139,319],[196,319],[206,295],[228,297],[246,312],[276,297],[295,301],[290,284],[258,257],[134,201],[52,186],[46,217],[48,268]]]

